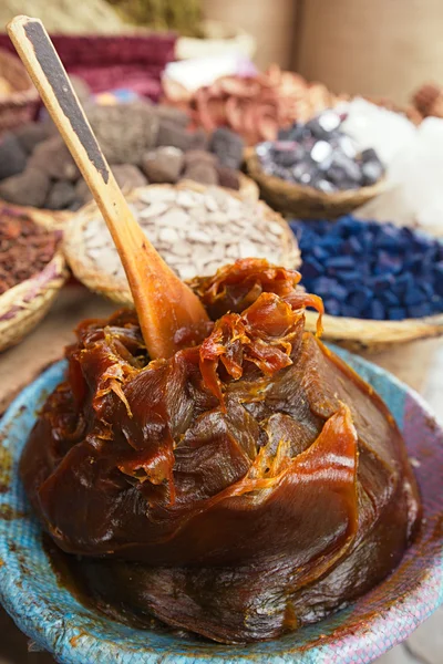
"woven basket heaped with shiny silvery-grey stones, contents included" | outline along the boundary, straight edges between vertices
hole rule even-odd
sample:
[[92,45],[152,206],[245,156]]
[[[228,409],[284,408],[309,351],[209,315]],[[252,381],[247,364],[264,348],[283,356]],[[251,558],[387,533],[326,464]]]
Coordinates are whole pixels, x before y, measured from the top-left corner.
[[272,208],[333,219],[384,190],[383,164],[372,148],[359,152],[340,128],[343,120],[328,110],[246,152],[247,172]]

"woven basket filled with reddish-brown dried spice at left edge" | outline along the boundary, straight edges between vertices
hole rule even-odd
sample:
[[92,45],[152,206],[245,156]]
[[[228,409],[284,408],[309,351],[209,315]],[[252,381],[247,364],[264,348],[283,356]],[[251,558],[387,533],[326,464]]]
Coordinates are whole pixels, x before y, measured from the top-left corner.
[[38,216],[0,204],[0,351],[45,315],[66,280],[60,235]]

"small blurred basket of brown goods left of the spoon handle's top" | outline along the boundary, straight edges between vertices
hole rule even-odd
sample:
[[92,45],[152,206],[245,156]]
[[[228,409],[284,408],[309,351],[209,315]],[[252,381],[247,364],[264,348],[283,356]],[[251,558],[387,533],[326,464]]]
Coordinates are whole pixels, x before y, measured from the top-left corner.
[[6,79],[14,92],[0,97],[0,134],[18,127],[35,115],[39,94],[18,58],[0,51],[0,76]]

